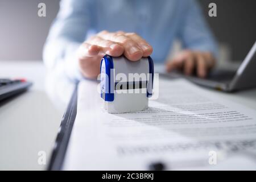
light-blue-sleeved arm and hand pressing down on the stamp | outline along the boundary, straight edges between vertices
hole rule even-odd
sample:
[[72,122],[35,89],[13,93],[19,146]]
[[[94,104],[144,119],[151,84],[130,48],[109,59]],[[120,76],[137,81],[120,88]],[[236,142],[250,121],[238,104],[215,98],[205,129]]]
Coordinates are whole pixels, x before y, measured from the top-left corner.
[[[68,77],[80,80],[83,77],[97,78],[102,56],[125,55],[131,61],[149,56],[152,47],[140,36],[122,31],[101,31],[85,40],[91,26],[93,1],[61,1],[60,11],[49,32],[44,48],[44,62],[49,68],[64,67]],[[114,23],[114,22],[113,22]]]

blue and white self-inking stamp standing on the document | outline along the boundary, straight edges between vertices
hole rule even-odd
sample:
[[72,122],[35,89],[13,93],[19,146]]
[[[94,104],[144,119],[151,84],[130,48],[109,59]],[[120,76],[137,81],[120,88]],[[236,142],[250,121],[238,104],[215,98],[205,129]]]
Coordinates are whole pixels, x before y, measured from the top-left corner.
[[129,113],[148,107],[154,63],[150,56],[129,61],[125,56],[101,59],[101,98],[108,113]]

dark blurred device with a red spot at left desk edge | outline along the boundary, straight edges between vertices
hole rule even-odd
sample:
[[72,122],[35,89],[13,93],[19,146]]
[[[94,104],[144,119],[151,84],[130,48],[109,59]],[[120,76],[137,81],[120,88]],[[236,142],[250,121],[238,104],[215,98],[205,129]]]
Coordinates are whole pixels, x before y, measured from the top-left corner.
[[24,79],[0,78],[0,102],[26,91],[32,85]]

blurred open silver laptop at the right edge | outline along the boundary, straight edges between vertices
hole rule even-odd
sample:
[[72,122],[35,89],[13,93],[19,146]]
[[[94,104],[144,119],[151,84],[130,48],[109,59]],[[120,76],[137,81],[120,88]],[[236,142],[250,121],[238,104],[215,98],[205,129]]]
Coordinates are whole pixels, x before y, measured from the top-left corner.
[[184,77],[195,84],[207,86],[224,92],[236,92],[237,90],[256,88],[256,42],[246,55],[237,71],[225,69],[213,69],[206,78],[185,76],[180,72],[159,72],[168,77]]

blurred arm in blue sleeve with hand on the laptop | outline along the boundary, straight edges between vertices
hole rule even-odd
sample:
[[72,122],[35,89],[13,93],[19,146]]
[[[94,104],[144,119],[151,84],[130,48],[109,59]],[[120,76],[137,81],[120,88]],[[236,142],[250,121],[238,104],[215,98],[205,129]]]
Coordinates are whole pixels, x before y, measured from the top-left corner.
[[182,69],[191,75],[196,70],[198,76],[205,77],[218,56],[216,40],[195,0],[187,1],[183,13],[178,38],[185,50],[167,63],[167,71]]

